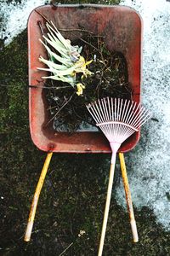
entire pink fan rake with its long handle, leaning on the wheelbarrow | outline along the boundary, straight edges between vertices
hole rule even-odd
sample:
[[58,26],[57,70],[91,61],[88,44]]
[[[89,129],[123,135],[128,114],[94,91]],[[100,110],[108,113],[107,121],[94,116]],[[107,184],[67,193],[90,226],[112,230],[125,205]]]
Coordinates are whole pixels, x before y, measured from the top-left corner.
[[[140,126],[144,125],[147,119],[150,118],[150,112],[141,106],[140,103],[138,104],[130,100],[111,97],[106,97],[98,100],[97,102],[89,103],[87,108],[94,118],[96,125],[99,126],[101,131],[105,134],[105,137],[108,139],[112,151],[110,177],[105,202],[105,214],[99,242],[98,256],[101,256],[104,247],[105,230],[111,203],[111,190],[115,171],[116,152],[128,137],[130,137],[135,131],[139,131]],[[131,222],[131,227],[134,236],[138,236],[135,221]]]

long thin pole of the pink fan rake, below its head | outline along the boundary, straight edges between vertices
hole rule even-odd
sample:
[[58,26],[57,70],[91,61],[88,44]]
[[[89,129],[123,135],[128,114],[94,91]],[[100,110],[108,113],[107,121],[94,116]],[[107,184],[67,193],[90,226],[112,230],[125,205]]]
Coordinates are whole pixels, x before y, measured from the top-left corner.
[[115,172],[115,162],[116,162],[116,153],[112,153],[109,184],[108,184],[107,196],[106,196],[106,202],[105,202],[105,213],[104,213],[101,237],[100,237],[100,241],[99,241],[98,256],[102,255],[104,242],[105,242],[105,231],[106,231],[109,209],[110,209],[110,204],[111,204],[111,191],[112,191],[113,178],[114,178],[114,172]]

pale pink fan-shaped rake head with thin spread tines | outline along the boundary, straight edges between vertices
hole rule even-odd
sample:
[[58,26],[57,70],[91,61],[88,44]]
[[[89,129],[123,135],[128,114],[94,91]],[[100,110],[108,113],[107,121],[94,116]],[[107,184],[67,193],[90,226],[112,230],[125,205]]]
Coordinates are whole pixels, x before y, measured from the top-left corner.
[[96,125],[105,134],[112,151],[150,118],[150,113],[136,102],[106,97],[87,106]]

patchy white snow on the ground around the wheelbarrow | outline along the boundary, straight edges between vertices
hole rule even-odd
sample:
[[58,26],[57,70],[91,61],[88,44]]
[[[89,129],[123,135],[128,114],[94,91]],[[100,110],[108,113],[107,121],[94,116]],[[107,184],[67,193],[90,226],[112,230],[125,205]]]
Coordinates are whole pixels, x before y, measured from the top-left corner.
[[[43,3],[0,2],[0,38],[7,37],[9,44],[26,28],[31,10]],[[125,154],[133,204],[139,209],[150,207],[157,221],[170,230],[170,2],[125,0],[122,5],[138,10],[144,20],[142,99],[155,119],[142,128],[137,147]],[[116,188],[116,199],[125,207],[122,184]]]

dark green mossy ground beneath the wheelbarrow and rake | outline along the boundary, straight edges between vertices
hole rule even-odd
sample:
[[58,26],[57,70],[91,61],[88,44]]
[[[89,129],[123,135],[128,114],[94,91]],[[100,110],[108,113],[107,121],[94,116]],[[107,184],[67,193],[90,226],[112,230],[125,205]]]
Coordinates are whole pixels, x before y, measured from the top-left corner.
[[[0,60],[0,254],[59,255],[70,246],[63,255],[97,255],[110,160],[105,154],[54,154],[31,242],[23,241],[46,157],[31,143],[29,132],[26,31],[3,48]],[[117,165],[116,183],[119,178]],[[170,233],[156,224],[153,213],[144,207],[135,209],[135,216],[137,244],[113,191],[104,255],[170,255]],[[78,236],[80,230],[86,233]]]

